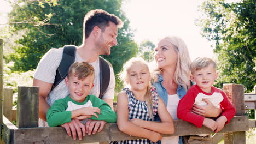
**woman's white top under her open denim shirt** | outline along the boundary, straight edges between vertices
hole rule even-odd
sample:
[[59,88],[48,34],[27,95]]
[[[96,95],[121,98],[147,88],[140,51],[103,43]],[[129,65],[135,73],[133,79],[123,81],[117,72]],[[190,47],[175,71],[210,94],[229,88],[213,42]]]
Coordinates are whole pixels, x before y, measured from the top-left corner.
[[[179,99],[179,95],[177,93],[171,95],[168,94],[168,104],[166,106],[166,109],[171,114],[173,120],[179,119],[177,117],[177,107],[179,104],[179,100],[181,99]],[[179,136],[162,137],[161,143],[179,143]]]

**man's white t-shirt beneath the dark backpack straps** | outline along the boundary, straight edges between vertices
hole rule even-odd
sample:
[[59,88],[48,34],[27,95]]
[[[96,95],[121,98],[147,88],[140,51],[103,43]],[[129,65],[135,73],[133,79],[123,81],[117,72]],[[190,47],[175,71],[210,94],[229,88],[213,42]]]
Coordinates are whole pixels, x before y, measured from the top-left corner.
[[[34,78],[48,82],[54,83],[56,69],[59,67],[61,58],[62,58],[63,48],[60,49],[50,49],[45,55],[42,57],[40,62],[38,63],[36,73],[34,74]],[[75,53],[75,62],[84,61],[78,53]],[[98,95],[100,94],[100,64],[99,59],[95,62],[89,63],[95,69],[95,79],[94,79],[94,87],[91,89],[89,95]],[[114,99],[114,89],[115,89],[115,76],[114,70],[110,67],[110,82],[106,93],[104,93],[104,99]],[[47,97],[47,103],[51,106],[53,105],[54,101],[57,99],[65,98],[69,95],[68,88],[65,85],[65,81],[61,81],[57,87],[50,91]],[[39,119],[39,127],[48,127],[47,122]]]

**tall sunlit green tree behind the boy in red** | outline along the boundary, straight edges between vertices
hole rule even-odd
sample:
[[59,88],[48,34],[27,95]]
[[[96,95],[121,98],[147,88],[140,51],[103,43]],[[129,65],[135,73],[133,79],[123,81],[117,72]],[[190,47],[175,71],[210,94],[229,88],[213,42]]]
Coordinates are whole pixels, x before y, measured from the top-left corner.
[[255,0],[226,3],[224,0],[207,0],[200,10],[203,16],[197,21],[202,35],[216,46],[222,83],[240,83],[246,92],[256,84],[256,11]]

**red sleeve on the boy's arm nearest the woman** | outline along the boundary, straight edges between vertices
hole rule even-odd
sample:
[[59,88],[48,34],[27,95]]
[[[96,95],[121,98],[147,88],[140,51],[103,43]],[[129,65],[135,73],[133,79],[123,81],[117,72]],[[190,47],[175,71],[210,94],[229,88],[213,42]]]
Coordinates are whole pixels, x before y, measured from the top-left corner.
[[184,97],[179,100],[179,105],[177,108],[177,116],[179,119],[193,123],[196,127],[201,128],[205,117],[191,113],[193,104],[195,103],[195,96],[190,90]]

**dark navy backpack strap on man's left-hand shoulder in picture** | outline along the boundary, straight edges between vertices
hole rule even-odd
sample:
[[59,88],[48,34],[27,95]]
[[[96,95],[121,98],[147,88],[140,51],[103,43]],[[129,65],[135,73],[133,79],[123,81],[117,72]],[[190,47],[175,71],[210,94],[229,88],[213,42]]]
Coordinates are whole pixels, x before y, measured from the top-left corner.
[[53,90],[59,83],[65,79],[68,73],[68,69],[75,59],[75,51],[77,50],[74,45],[65,45],[63,49],[63,55],[59,67],[56,70],[55,80],[53,83]]

